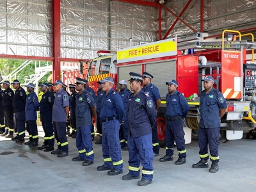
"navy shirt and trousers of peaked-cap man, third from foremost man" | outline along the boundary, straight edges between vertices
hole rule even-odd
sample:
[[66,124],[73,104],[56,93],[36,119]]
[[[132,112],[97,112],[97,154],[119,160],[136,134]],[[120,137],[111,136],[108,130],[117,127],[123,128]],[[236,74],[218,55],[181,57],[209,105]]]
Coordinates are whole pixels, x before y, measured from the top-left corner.
[[92,147],[92,115],[91,108],[95,107],[96,103],[92,95],[86,90],[83,90],[81,95],[76,97],[76,147],[79,152],[79,158],[88,161],[93,161],[94,153]]

